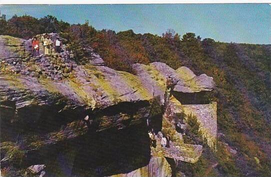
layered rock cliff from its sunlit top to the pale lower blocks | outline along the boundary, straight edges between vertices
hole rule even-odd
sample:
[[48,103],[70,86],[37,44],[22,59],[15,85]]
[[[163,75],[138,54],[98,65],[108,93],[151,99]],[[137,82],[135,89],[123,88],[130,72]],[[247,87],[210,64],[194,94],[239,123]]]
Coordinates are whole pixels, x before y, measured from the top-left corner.
[[[105,66],[91,48],[85,65],[76,64],[66,50],[60,54],[53,52],[52,56],[43,56],[41,50],[41,56],[33,58],[29,44],[29,40],[0,36],[1,142],[5,141],[1,144],[5,152],[2,162],[11,159],[9,146],[24,154],[68,139],[91,136],[92,132],[129,128],[145,124],[146,119],[158,121],[150,115],[154,99],[161,108],[169,107],[171,115],[183,111],[194,114],[208,145],[215,148],[216,104],[185,104],[185,101],[183,104],[171,95],[172,92],[189,96],[211,91],[212,77],[196,76],[187,67],[174,70],[161,62],[133,64],[136,71],[133,75]],[[160,127],[162,131],[170,130],[169,137],[178,135],[171,115],[162,115],[163,127]],[[46,127],[48,124],[52,125]],[[22,137],[18,140],[15,134],[20,131]],[[167,175],[170,170],[163,156],[170,154],[170,158],[196,162],[201,153],[200,145],[184,145],[180,138],[172,146],[178,146],[178,151],[180,147],[185,148],[177,156],[161,148],[160,155],[150,158],[146,166],[123,176]],[[194,154],[191,154],[190,149],[197,152],[192,150]],[[155,171],[154,163],[166,167]]]

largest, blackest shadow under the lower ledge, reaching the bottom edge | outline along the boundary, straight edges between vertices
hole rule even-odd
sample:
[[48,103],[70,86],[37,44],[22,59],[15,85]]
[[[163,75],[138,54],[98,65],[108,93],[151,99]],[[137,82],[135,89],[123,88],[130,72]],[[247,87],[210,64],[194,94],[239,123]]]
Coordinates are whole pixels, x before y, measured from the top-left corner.
[[145,124],[91,132],[27,154],[24,166],[45,164],[46,176],[106,176],[127,173],[148,164]]

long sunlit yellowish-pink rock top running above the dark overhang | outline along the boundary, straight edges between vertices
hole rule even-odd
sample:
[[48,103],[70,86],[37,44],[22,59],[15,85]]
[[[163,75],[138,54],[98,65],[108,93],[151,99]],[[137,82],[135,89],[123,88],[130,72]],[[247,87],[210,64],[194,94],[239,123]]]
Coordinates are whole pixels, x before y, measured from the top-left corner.
[[163,103],[168,78],[175,83],[174,91],[198,92],[214,87],[212,77],[196,76],[187,67],[174,70],[161,62],[134,64],[133,75],[104,66],[94,52],[88,64],[77,65],[67,51],[61,57],[32,58],[29,40],[20,38],[1,35],[0,48],[0,101],[15,101],[17,108],[50,104],[63,97],[69,105],[92,109],[154,96]]

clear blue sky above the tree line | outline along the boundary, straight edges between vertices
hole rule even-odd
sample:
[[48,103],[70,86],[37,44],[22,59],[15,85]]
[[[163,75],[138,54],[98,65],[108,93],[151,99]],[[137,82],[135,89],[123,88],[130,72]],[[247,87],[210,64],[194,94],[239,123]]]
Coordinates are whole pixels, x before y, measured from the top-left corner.
[[56,16],[69,23],[89,23],[96,29],[161,35],[172,28],[180,35],[238,43],[271,43],[271,5],[262,4],[71,4],[1,5],[7,18],[28,14]]

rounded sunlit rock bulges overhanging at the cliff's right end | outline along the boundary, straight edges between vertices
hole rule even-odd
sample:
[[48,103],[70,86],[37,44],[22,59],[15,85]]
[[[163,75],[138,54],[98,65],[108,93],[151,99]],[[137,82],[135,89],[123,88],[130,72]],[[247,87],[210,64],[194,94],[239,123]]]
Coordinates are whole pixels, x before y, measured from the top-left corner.
[[[210,91],[214,88],[212,77],[206,74],[196,76],[189,68],[182,66],[174,70],[165,63],[152,62],[149,65],[133,64],[133,68],[137,71],[137,76],[154,95],[162,97],[162,93],[158,88],[165,90],[166,80],[171,79],[174,84],[174,91],[179,92],[199,92]],[[153,84],[156,83],[156,84]],[[156,85],[153,88],[152,85]]]

